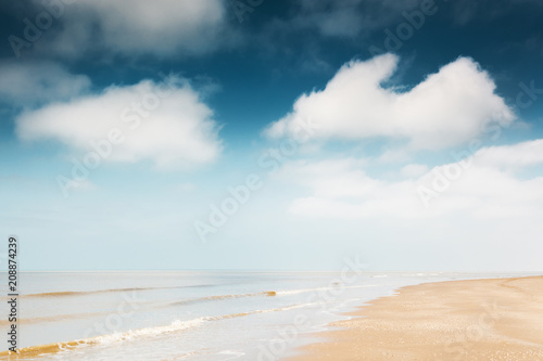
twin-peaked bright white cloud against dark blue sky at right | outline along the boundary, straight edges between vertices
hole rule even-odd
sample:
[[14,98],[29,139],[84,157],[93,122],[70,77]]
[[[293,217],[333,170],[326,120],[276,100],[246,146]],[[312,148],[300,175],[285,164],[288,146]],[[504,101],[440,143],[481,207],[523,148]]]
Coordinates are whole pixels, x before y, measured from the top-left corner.
[[514,121],[489,74],[471,59],[459,57],[408,91],[382,87],[397,62],[384,54],[345,64],[324,90],[300,96],[267,136],[290,136],[310,119],[319,126],[315,138],[388,137],[406,139],[412,149],[435,150],[471,140],[492,123]]

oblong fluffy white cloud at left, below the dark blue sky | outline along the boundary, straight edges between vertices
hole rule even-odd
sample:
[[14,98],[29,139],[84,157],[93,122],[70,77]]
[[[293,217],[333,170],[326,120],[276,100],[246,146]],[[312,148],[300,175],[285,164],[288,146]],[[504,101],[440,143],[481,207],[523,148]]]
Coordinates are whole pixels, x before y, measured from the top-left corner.
[[[186,80],[168,78],[164,83],[113,86],[101,94],[23,113],[16,132],[23,140],[54,139],[87,152],[102,144],[106,160],[189,166],[212,162],[220,152],[212,117]],[[112,145],[111,154],[104,142]]]

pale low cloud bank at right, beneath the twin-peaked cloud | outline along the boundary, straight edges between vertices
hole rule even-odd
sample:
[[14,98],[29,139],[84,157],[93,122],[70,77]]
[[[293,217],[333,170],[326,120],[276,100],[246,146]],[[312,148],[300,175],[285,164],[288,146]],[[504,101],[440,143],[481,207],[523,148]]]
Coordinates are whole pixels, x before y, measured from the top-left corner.
[[397,180],[369,177],[357,159],[287,164],[281,176],[311,190],[293,201],[299,216],[339,219],[476,218],[538,219],[543,216],[543,177],[516,176],[504,166],[542,165],[543,140],[481,149],[472,158],[435,167],[407,165]]

